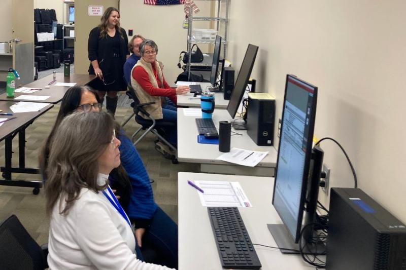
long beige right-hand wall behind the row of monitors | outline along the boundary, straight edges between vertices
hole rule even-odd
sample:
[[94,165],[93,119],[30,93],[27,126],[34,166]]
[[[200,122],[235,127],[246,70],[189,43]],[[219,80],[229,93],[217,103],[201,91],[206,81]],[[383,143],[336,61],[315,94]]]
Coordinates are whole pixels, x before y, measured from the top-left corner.
[[[277,98],[277,119],[287,73],[318,86],[315,136],[338,140],[359,187],[406,223],[404,10],[403,0],[232,1],[228,55],[239,67],[248,43],[259,46],[252,77]],[[341,150],[321,146],[332,186],[353,186]]]

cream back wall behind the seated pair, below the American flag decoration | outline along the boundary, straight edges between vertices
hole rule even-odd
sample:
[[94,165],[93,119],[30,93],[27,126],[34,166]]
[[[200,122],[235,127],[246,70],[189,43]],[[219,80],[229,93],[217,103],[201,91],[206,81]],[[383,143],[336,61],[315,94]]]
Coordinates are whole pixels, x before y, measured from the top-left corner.
[[[196,1],[196,4],[200,9],[196,16],[210,16],[211,1]],[[159,49],[157,58],[164,64],[166,82],[174,86],[178,74],[182,72],[176,66],[179,53],[185,51],[187,45],[187,29],[182,28],[185,19],[183,5],[151,6],[144,5],[144,1],[120,0],[120,16],[124,29],[133,29],[134,34],[156,42]],[[196,28],[207,28],[204,22],[195,25]]]

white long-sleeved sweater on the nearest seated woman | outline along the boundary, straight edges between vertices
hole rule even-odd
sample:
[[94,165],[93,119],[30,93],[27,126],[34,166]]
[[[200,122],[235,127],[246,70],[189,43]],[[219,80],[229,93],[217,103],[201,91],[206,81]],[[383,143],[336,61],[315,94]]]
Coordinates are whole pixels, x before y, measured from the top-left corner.
[[[99,174],[99,184],[107,177]],[[59,212],[58,200],[49,228],[49,269],[168,269],[137,259],[131,227],[101,191],[82,188],[69,213]]]

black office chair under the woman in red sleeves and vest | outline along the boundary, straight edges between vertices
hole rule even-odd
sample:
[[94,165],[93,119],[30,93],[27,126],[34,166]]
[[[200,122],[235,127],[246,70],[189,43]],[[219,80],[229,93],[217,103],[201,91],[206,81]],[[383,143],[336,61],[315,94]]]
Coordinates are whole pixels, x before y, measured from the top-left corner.
[[[140,103],[140,100],[138,99],[136,95],[136,91],[132,88],[130,84],[127,85],[128,91],[126,92],[127,96],[133,100],[131,103],[131,107],[133,107],[134,114],[136,115],[135,119],[138,124],[141,125],[141,127],[132,134],[131,139],[136,146],[142,138],[144,138],[148,132],[153,133],[155,136],[158,137],[158,140],[155,141],[155,149],[158,150],[158,152],[161,152],[162,155],[166,158],[172,161],[173,164],[178,163],[178,150],[175,146],[173,146],[170,142],[168,142],[162,134],[165,132],[165,128],[171,127],[174,128],[176,127],[176,123],[173,122],[168,122],[168,121],[162,121],[162,120],[155,120],[151,114],[149,114],[145,109],[144,106],[154,104],[155,102],[148,102],[148,103]],[[139,113],[143,113],[148,119],[143,118]],[[144,133],[140,135],[140,137],[134,142],[134,138],[139,134],[142,130],[144,130]],[[161,146],[159,146],[159,142],[162,142],[162,144],[168,146],[170,149],[173,150],[175,155],[172,153],[169,153],[162,149]]]

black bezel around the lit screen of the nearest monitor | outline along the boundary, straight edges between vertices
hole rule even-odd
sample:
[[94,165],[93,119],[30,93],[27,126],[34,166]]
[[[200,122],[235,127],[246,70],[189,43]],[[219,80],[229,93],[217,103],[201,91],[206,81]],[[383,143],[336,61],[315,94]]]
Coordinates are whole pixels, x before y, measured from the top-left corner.
[[[313,93],[313,103],[312,103],[312,108],[311,108],[311,114],[309,117],[309,128],[308,128],[308,142],[307,142],[307,147],[306,147],[306,154],[304,158],[304,169],[303,169],[303,175],[302,175],[302,186],[301,186],[301,192],[300,192],[300,209],[298,212],[298,217],[297,217],[297,224],[296,224],[296,235],[292,236],[290,233],[290,230],[287,229],[289,232],[289,235],[292,236],[293,240],[295,243],[298,243],[299,238],[300,238],[300,231],[302,227],[302,221],[303,221],[303,212],[305,210],[304,207],[304,202],[306,201],[306,195],[307,195],[307,188],[308,188],[308,181],[309,181],[309,171],[310,171],[310,163],[311,163],[311,157],[312,157],[312,145],[313,145],[313,135],[314,135],[314,127],[315,127],[315,121],[316,121],[316,107],[317,107],[317,92],[318,88],[312,84],[309,84],[306,81],[303,81],[295,75],[287,74],[286,75],[286,83],[285,83],[285,95],[283,99],[283,110],[282,110],[282,118],[281,118],[281,131],[280,131],[280,138],[282,138],[282,132],[283,132],[283,119],[285,116],[285,103],[286,103],[286,93],[287,93],[287,87],[288,87],[288,80],[289,78],[292,78],[294,80],[298,80],[304,85],[307,85],[311,88],[314,89]],[[278,158],[277,158],[277,164],[275,168],[275,180],[274,180],[274,192],[272,194],[272,205],[274,205],[274,199],[275,199],[275,190],[277,186],[277,176],[278,176],[278,165],[279,165],[279,151],[281,149],[281,140],[279,140],[278,144]],[[281,215],[280,211],[275,207],[275,210],[277,211],[279,217],[282,219],[282,222],[285,224],[285,220],[283,216]]]

